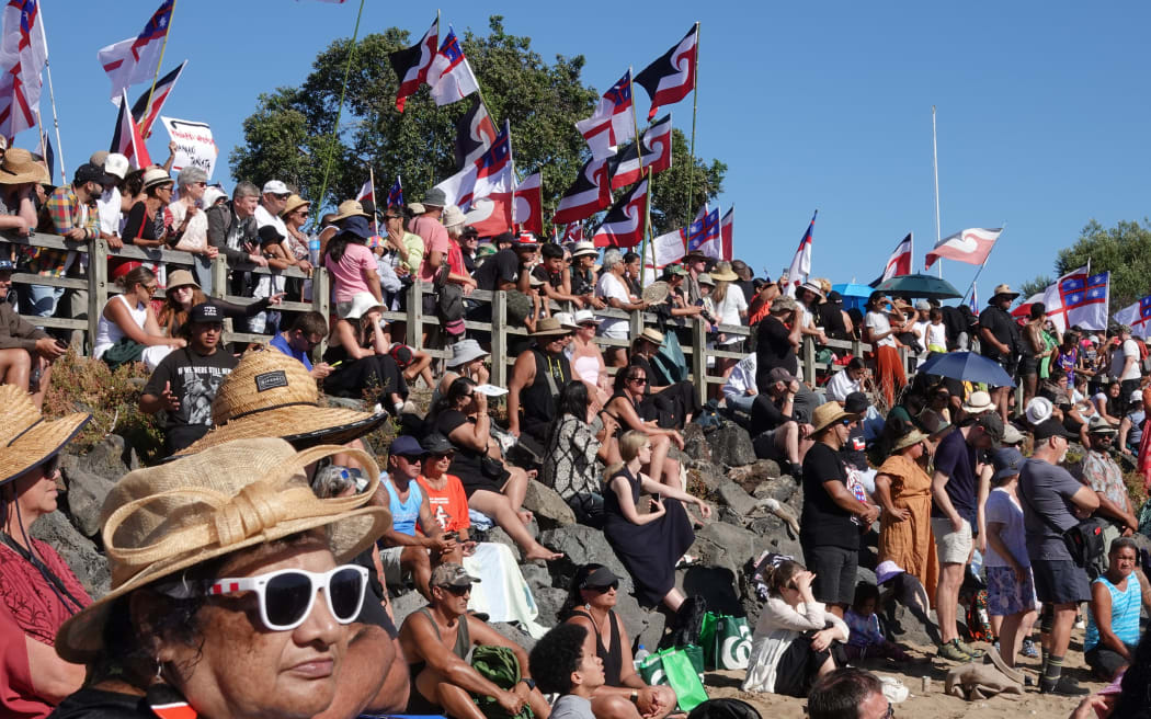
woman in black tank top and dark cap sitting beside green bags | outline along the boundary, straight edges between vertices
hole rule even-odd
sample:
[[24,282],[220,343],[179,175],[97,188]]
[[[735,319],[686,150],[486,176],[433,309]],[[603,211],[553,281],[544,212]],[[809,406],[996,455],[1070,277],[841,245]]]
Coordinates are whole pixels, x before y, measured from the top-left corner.
[[592,712],[597,719],[665,717],[676,707],[676,690],[653,687],[635,671],[627,627],[615,611],[618,596],[619,578],[601,564],[586,564],[576,569],[559,610],[561,626],[582,628],[584,653],[603,665],[603,686],[589,697]]

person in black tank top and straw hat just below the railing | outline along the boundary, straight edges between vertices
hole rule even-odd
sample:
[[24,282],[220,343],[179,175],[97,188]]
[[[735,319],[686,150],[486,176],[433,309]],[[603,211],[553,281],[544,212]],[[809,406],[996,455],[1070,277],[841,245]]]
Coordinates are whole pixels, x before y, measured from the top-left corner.
[[508,380],[508,431],[517,437],[523,429],[541,445],[547,442],[559,388],[572,380],[571,364],[564,355],[571,335],[559,320],[544,318],[532,332],[535,346],[516,358]]

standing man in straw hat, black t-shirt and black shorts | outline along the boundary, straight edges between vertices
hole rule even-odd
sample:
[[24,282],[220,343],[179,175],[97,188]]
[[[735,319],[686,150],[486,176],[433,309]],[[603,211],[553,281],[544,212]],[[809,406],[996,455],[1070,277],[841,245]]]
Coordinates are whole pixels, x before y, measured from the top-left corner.
[[859,415],[838,403],[820,405],[813,420],[815,444],[803,458],[803,513],[799,542],[809,572],[811,592],[828,611],[844,615],[855,597],[860,531],[879,517],[879,507],[860,502],[847,487],[847,469],[839,451]]

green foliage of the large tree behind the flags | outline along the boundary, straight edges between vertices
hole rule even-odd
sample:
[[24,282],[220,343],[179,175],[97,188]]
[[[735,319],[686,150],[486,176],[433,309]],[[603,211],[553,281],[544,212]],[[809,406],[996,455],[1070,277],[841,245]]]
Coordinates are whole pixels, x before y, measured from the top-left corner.
[[[505,32],[498,15],[489,18],[488,30],[487,36],[467,31],[460,43],[493,120],[511,123],[517,173],[520,177],[536,169],[542,173],[547,220],[588,156],[573,125],[590,115],[600,93],[582,83],[582,55],[556,55],[555,62],[548,63],[532,49],[531,38]],[[230,154],[233,175],[257,184],[283,179],[315,200],[333,153],[325,206],[355,197],[368,167],[375,170],[381,196],[399,175],[404,198],[421,198],[457,170],[455,122],[470,102],[436,107],[421,87],[407,99],[405,112],[398,113],[398,81],[388,54],[411,44],[409,32],[397,28],[356,44],[342,116],[341,89],[353,49],[350,39],[336,40],[321,52],[298,87],[260,94],[256,113],[243,123],[244,145]],[[647,107],[645,93],[638,93],[637,105],[640,112]],[[340,131],[333,141],[337,116]],[[680,110],[678,117],[686,117],[686,113]],[[689,212],[722,191],[726,173],[718,160],[689,161],[688,144],[679,130],[673,133],[672,152],[672,168],[655,176],[651,211],[656,231],[681,227]]]

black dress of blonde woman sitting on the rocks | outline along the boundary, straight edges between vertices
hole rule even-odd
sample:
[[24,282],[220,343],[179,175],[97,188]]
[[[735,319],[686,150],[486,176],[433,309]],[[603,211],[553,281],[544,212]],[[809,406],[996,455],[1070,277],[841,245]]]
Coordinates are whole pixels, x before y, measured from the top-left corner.
[[603,534],[632,575],[637,601],[643,606],[655,606],[676,586],[676,563],[695,541],[695,533],[678,499],[664,498],[666,513],[654,522],[630,522],[611,488],[611,482],[619,476],[631,485],[632,502],[640,499],[640,481],[627,467],[613,474],[603,490]]

